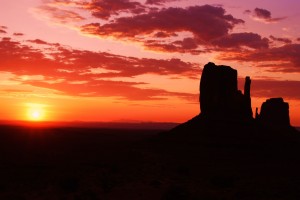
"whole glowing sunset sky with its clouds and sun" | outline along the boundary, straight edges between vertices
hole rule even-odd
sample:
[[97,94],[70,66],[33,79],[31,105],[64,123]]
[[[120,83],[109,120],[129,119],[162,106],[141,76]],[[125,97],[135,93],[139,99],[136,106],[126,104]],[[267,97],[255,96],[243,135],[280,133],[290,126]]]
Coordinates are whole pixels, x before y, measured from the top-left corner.
[[1,0],[0,120],[185,122],[208,62],[300,126],[298,0]]

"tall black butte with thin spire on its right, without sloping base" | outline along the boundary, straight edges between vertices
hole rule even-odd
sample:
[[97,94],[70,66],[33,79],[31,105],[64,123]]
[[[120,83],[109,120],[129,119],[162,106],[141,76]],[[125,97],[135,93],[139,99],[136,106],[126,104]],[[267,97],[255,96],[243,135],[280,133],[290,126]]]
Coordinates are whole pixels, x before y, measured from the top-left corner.
[[246,77],[244,94],[238,90],[237,70],[208,63],[200,81],[201,115],[213,120],[251,120],[250,77]]

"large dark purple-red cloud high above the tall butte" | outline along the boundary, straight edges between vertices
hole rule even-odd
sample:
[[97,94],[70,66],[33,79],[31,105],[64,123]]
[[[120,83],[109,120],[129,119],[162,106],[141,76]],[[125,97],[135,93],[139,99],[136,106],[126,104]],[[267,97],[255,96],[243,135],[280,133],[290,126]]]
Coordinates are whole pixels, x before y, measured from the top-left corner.
[[[120,17],[101,25],[90,23],[81,27],[82,32],[101,37],[139,41],[147,48],[169,52],[200,52],[199,45],[225,37],[235,25],[244,23],[232,15],[226,15],[221,7],[210,5],[188,8],[164,8],[132,17]],[[182,41],[172,37],[187,32],[192,37]],[[156,36],[148,40],[146,36]],[[160,39],[164,38],[164,39]],[[165,38],[170,39],[167,41]],[[191,50],[192,49],[192,50]]]

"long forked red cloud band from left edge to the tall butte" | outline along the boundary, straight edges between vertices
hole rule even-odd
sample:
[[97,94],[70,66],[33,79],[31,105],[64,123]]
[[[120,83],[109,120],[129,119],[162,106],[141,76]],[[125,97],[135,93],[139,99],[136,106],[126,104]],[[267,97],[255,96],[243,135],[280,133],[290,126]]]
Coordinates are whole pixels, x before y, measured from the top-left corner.
[[[32,42],[36,45],[48,45],[53,52],[44,53],[38,48],[11,38],[3,38],[0,41],[0,71],[11,72],[16,76],[13,79],[15,81],[55,89],[68,95],[115,96],[132,100],[165,99],[170,96],[185,99],[195,97],[189,93],[141,88],[147,83],[109,80],[112,77],[133,77],[142,74],[195,77],[200,71],[195,64],[180,59],[139,59],[76,50],[42,40]],[[18,78],[22,75],[39,75],[39,79]]]

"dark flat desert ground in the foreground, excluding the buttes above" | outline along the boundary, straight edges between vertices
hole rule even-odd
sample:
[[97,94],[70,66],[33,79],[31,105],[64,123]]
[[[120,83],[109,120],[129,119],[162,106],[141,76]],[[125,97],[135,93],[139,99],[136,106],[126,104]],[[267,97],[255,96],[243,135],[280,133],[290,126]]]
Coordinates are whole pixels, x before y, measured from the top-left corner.
[[187,137],[1,126],[0,199],[300,199],[298,144]]

